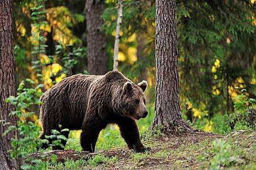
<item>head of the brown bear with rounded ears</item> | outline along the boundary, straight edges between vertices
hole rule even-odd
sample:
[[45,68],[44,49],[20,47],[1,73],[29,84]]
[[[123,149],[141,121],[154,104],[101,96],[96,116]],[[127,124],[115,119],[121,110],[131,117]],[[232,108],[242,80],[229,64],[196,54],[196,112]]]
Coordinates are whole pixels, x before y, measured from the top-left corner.
[[144,91],[147,86],[148,84],[145,80],[138,83],[138,85],[129,81],[123,85],[122,108],[126,117],[135,120],[146,118],[148,111]]

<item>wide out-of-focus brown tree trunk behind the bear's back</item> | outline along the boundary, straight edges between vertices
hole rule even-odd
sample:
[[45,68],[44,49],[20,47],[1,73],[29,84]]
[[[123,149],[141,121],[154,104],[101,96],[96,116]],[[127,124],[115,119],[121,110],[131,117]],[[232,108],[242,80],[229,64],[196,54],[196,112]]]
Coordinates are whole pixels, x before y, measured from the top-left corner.
[[101,31],[104,0],[86,0],[86,39],[88,50],[88,71],[90,74],[107,72],[106,36]]

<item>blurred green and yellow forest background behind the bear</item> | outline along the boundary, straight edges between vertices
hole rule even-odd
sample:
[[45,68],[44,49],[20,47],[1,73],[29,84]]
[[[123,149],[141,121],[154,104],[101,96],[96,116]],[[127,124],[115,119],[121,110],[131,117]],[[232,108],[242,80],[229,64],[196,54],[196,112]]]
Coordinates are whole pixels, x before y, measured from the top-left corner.
[[[14,0],[17,86],[29,78],[32,87],[43,85],[40,96],[67,76],[112,70],[117,6],[117,0]],[[123,1],[118,52],[118,70],[148,81],[150,115],[139,121],[147,126],[154,117],[155,8],[154,0]],[[256,1],[177,0],[177,36],[183,117],[217,131],[216,123],[256,99]],[[29,107],[36,121],[38,107]]]

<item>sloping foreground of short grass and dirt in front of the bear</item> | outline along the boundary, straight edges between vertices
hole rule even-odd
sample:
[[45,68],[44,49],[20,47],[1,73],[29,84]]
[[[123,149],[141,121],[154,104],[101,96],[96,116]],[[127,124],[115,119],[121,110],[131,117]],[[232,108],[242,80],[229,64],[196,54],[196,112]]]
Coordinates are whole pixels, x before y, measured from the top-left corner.
[[[89,160],[48,163],[49,170],[256,170],[256,132],[229,135],[196,132],[179,136],[144,137],[151,150],[135,153],[117,148],[115,155]],[[98,152],[98,151],[97,151]]]

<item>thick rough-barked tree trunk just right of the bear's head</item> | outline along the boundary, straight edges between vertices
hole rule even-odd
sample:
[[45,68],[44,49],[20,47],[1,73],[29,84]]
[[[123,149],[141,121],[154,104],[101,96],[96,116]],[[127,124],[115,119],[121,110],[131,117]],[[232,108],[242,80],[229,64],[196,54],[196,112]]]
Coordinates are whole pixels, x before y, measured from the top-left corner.
[[193,132],[181,118],[177,56],[176,0],[156,0],[156,113],[151,128]]

